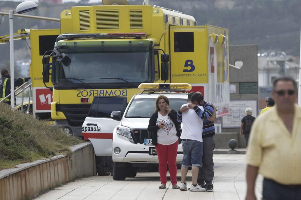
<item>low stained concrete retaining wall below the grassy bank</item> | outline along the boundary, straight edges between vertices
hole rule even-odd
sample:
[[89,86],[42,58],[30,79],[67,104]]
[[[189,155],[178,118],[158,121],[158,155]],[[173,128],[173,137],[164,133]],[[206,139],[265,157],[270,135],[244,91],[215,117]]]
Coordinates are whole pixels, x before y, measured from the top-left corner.
[[76,178],[96,175],[92,144],[85,142],[70,149],[69,156],[55,156],[0,171],[0,199],[33,198]]

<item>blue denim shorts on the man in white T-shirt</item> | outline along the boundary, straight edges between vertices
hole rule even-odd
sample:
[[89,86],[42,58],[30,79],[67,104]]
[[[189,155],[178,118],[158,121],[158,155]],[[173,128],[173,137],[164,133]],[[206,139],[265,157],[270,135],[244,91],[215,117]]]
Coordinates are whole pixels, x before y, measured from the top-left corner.
[[196,140],[185,141],[182,143],[183,147],[183,160],[182,167],[191,167],[202,165],[203,157],[203,142]]

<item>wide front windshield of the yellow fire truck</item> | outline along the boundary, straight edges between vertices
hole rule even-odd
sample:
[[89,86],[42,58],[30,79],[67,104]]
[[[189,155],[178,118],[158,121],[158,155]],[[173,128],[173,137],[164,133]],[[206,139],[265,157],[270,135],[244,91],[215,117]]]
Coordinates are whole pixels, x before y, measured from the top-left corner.
[[82,82],[88,84],[151,82],[151,52],[145,49],[101,52],[62,49],[61,52],[71,59],[71,64],[65,66],[62,62],[56,61],[52,71],[54,83],[81,85]]

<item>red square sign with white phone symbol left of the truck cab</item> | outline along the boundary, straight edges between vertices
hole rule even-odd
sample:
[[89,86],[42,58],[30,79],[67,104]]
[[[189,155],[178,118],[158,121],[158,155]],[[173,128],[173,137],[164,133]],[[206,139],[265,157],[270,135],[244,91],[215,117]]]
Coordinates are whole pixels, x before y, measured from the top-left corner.
[[36,89],[36,110],[51,110],[52,92],[48,88]]

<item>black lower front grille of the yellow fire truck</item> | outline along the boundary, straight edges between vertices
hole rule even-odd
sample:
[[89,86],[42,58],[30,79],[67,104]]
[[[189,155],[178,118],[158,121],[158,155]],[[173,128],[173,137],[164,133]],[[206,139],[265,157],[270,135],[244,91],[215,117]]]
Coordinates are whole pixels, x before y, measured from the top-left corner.
[[56,111],[63,112],[71,126],[82,126],[91,104],[57,104]]

